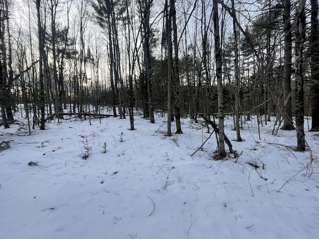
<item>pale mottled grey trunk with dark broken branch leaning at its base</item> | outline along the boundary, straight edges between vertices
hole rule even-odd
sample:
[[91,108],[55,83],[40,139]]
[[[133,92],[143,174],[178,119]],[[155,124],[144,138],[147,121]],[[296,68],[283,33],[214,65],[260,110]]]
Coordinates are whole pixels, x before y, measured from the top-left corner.
[[213,0],[213,22],[214,22],[214,43],[215,43],[215,64],[217,79],[217,99],[218,99],[218,157],[224,158],[225,135],[224,135],[224,105],[223,105],[223,82],[222,82],[222,61],[219,37],[219,17],[218,3]]

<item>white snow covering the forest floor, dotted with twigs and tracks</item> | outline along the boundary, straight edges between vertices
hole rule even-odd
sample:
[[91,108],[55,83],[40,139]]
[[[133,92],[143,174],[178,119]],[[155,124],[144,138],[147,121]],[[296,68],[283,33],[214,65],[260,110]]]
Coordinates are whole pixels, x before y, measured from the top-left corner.
[[11,147],[0,152],[0,238],[317,239],[319,134],[306,130],[311,152],[297,152],[296,132],[272,135],[274,121],[261,139],[256,119],[244,123],[236,142],[226,120],[237,163],[213,160],[214,134],[190,156],[210,135],[190,119],[171,137],[159,116],[135,116],[133,131],[118,118],[55,120],[30,136],[1,127]]

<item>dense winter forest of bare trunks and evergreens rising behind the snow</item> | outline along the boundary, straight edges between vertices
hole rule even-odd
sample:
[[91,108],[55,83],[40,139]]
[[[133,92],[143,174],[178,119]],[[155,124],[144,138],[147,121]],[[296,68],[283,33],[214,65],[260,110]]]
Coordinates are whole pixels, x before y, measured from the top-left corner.
[[140,109],[167,136],[204,119],[223,158],[224,116],[241,141],[256,115],[304,151],[305,116],[319,130],[318,14],[318,0],[0,0],[1,125],[23,112],[30,134],[65,115],[134,130]]

